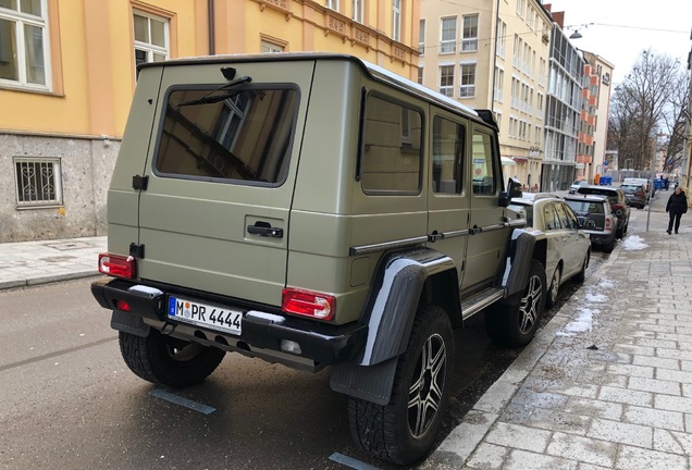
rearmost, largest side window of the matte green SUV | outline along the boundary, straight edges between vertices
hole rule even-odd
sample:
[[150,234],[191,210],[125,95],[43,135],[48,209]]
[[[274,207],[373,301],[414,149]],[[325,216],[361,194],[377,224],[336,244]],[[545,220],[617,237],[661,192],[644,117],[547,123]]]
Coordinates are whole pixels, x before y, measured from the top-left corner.
[[422,134],[419,111],[368,96],[361,170],[367,194],[420,193]]

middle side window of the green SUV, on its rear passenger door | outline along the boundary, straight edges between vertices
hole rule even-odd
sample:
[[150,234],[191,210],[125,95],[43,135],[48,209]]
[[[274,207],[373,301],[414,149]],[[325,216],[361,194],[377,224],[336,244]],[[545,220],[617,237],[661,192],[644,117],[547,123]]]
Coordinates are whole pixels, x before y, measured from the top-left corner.
[[464,145],[461,124],[435,116],[433,120],[433,190],[460,194],[464,182]]

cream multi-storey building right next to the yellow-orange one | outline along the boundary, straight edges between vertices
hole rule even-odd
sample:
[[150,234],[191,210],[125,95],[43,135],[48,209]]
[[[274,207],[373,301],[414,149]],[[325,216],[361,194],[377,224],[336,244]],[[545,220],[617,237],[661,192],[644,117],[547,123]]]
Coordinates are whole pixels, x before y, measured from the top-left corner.
[[421,0],[419,83],[494,111],[505,175],[541,182],[553,20],[536,0]]

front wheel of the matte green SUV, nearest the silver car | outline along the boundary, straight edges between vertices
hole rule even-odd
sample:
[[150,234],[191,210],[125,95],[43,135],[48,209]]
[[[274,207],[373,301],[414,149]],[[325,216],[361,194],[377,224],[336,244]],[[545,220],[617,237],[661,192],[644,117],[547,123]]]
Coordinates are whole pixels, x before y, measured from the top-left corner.
[[510,347],[529,344],[539,329],[546,296],[545,268],[533,260],[523,292],[486,309],[487,335],[496,343]]

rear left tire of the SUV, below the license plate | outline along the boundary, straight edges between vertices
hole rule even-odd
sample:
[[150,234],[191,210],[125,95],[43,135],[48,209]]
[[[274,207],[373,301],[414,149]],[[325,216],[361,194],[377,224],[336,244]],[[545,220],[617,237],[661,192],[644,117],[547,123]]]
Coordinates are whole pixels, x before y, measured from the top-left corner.
[[169,387],[198,384],[211,374],[225,352],[164,336],[151,329],[147,337],[119,332],[120,351],[139,378]]

